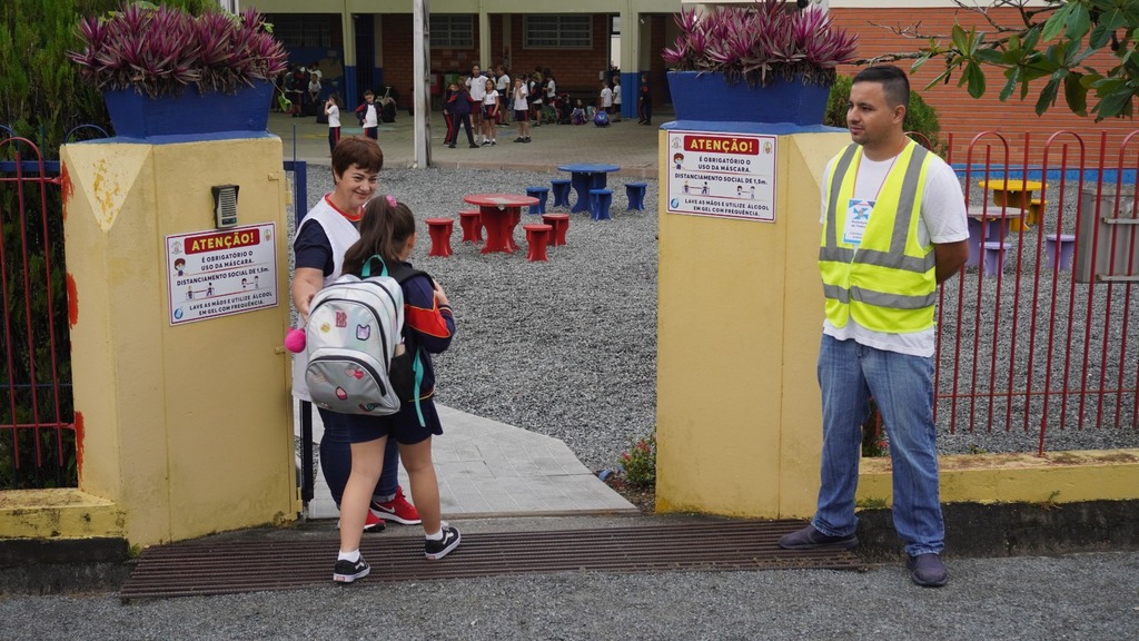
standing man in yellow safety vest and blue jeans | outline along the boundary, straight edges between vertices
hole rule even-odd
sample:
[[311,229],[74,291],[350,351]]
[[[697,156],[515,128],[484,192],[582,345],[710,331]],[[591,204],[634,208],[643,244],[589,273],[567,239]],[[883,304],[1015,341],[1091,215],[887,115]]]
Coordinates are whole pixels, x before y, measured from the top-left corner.
[[854,490],[872,397],[890,441],[894,527],[910,577],[936,587],[949,574],[933,422],[934,306],[937,284],[968,258],[969,232],[957,175],[902,129],[909,97],[902,70],[862,70],[846,107],[854,144],[827,165],[819,246],[822,485],[811,525],[779,545],[858,545]]

